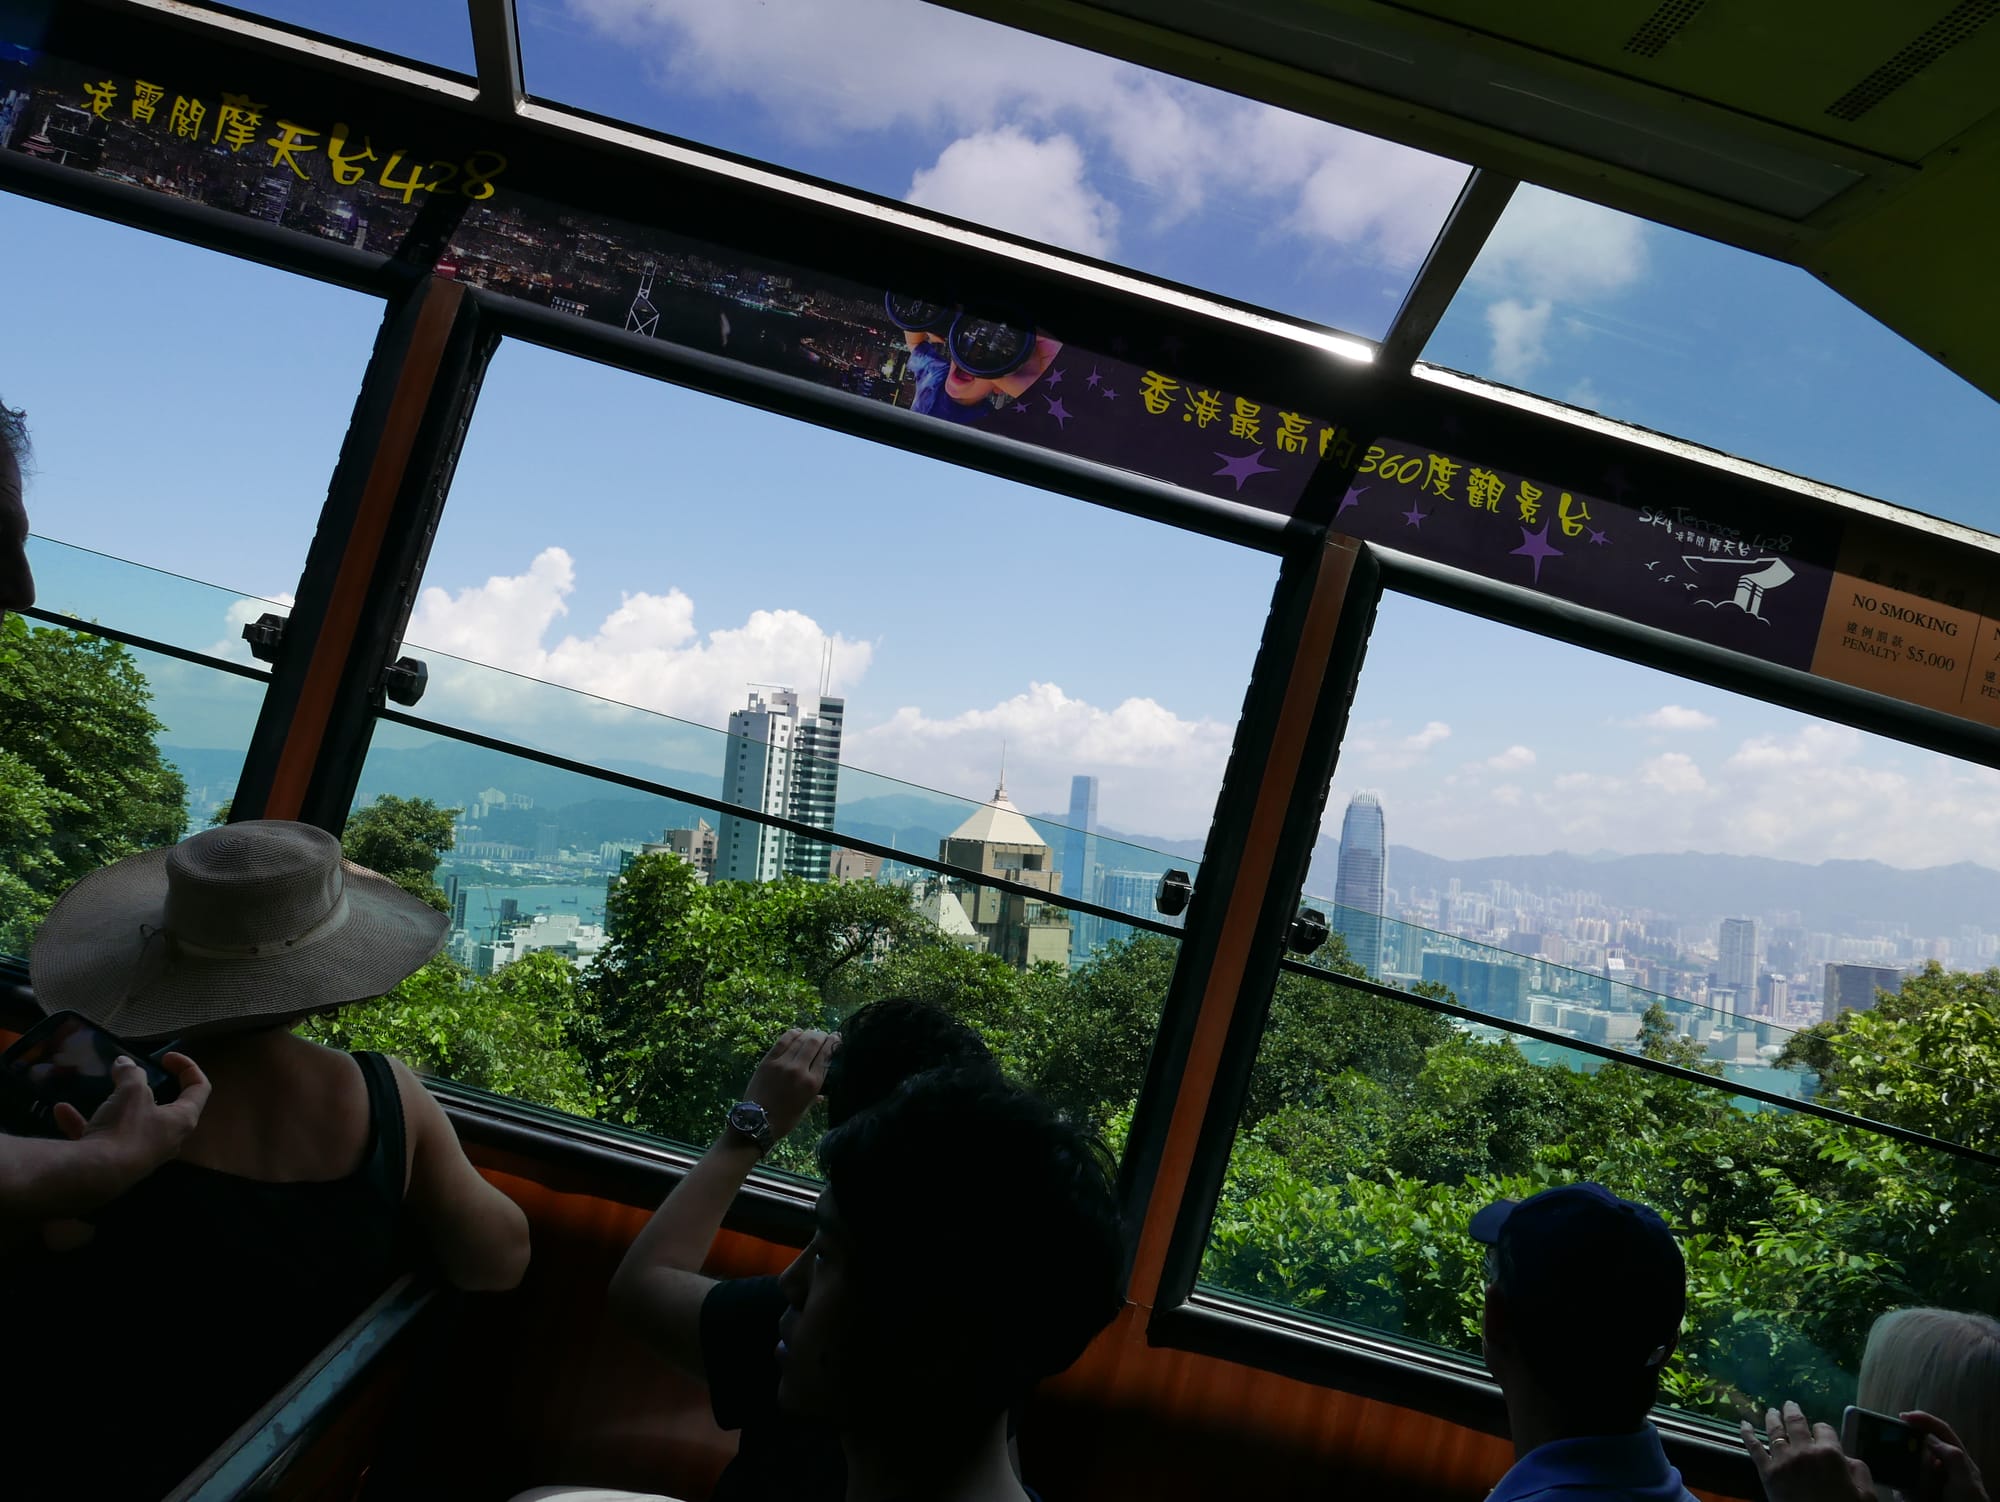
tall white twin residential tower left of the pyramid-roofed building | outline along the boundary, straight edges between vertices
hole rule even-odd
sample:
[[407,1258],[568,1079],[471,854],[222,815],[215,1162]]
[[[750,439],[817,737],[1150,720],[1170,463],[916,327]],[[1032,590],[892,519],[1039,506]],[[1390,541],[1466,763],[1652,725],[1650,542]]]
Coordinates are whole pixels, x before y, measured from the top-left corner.
[[[798,694],[780,688],[730,716],[722,796],[742,808],[830,828],[840,790],[840,726],[846,700],[820,696],[806,710]],[[736,814],[722,816],[716,834],[716,880],[770,882],[804,876],[824,882],[832,848]]]

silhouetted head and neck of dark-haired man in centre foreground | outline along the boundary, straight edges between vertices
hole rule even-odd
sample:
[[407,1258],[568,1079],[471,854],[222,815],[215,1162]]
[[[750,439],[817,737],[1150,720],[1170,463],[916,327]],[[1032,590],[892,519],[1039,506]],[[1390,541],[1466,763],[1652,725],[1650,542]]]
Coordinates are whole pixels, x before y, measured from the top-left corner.
[[1118,1312],[1102,1142],[990,1072],[924,1074],[820,1142],[784,1270],[778,1402],[840,1434],[848,1502],[1022,1502],[1008,1412]]

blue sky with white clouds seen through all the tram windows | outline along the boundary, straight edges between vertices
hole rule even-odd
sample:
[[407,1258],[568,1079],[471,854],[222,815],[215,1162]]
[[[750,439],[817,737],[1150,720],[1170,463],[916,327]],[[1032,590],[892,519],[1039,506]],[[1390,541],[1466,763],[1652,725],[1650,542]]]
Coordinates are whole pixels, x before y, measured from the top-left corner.
[[[470,62],[446,0],[258,8]],[[916,0],[522,0],[522,30],[550,98],[1364,334],[1462,176]],[[378,304],[14,198],[0,258],[40,292],[0,386],[38,434],[38,530],[228,592],[290,590]],[[2000,530],[2000,406],[1804,272],[1628,216],[1524,190],[1426,354]],[[70,588],[174,640],[234,634],[234,594],[132,588],[114,608],[78,560],[42,572],[52,604]],[[854,764],[984,796],[1004,740],[1026,806],[1060,808],[1070,772],[1098,772],[1108,824],[1188,838],[1274,574],[508,346],[410,636],[706,724],[750,678],[812,682],[832,640]],[[490,674],[446,678],[426,710],[482,728],[610,756],[660,740],[632,716],[550,716],[552,694]],[[240,722],[196,698],[182,740]],[[1412,602],[1376,630],[1334,824],[1354,786],[1384,792],[1392,840],[1464,856],[1930,864],[1982,858],[2000,832],[1988,774]]]

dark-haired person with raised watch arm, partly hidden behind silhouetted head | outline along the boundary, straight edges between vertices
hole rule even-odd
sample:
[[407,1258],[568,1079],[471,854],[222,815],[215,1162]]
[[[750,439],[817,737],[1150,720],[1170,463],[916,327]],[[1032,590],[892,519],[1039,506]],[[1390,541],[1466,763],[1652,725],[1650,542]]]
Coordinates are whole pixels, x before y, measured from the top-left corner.
[[758,1160],[826,1096],[842,1126],[906,1080],[934,1068],[998,1078],[986,1044],[964,1022],[924,1002],[860,1008],[840,1034],[790,1030],[758,1064],[722,1134],[638,1234],[612,1280],[612,1308],[674,1366],[708,1386],[722,1428],[740,1430],[736,1460],[714,1502],[838,1500],[846,1464],[838,1436],[778,1408],[776,1278],[702,1274],[722,1218]]

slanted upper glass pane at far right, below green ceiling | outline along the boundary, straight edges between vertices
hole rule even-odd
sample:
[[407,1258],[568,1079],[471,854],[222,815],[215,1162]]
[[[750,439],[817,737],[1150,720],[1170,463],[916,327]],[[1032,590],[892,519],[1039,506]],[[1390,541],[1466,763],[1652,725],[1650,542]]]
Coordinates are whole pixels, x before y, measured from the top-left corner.
[[2000,404],[1808,272],[1522,188],[1424,358],[2000,532]]

